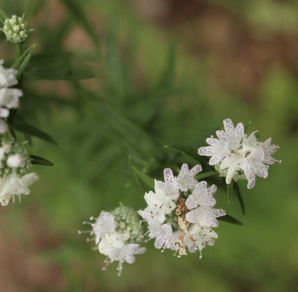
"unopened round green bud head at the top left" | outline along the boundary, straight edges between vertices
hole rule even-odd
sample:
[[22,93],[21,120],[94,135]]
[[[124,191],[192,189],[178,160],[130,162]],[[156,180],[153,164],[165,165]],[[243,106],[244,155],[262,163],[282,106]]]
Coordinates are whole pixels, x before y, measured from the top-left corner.
[[28,23],[24,20],[24,15],[23,17],[13,15],[4,21],[4,26],[1,30],[5,33],[7,40],[13,43],[22,43],[26,40],[28,32],[33,30],[28,30],[27,26]]

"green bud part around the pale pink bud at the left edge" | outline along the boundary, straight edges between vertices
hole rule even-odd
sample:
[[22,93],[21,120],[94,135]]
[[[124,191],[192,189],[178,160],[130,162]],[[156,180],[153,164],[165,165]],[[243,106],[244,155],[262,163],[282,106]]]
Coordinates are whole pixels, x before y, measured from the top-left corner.
[[[23,175],[29,166],[31,166],[31,158],[27,152],[27,149],[22,143],[16,142],[11,137],[1,137],[0,147],[4,151],[4,154],[0,160],[1,178],[11,174],[13,170],[16,172],[16,174]],[[17,158],[17,165],[9,165],[9,160],[11,157]]]

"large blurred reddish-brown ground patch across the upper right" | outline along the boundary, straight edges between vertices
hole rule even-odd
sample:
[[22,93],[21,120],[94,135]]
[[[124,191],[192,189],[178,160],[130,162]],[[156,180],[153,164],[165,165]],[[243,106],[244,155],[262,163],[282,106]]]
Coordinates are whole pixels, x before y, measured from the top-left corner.
[[211,83],[246,99],[253,98],[271,66],[298,73],[298,35],[251,27],[228,10],[204,1],[133,3],[142,17],[173,31],[187,51],[208,58]]

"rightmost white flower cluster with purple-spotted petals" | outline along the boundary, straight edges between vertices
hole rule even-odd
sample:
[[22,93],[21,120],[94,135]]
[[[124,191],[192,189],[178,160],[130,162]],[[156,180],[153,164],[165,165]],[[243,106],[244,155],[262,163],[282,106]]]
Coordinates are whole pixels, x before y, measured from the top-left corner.
[[271,138],[259,142],[255,136],[258,131],[246,135],[243,124],[239,123],[235,128],[230,119],[224,120],[224,129],[216,131],[218,139],[213,136],[207,138],[210,146],[199,148],[198,154],[211,156],[209,164],[215,165],[220,175],[226,177],[227,184],[232,179],[247,179],[247,188],[251,189],[255,185],[256,175],[263,178],[268,176],[268,165],[278,161],[271,155],[279,147],[270,145]]

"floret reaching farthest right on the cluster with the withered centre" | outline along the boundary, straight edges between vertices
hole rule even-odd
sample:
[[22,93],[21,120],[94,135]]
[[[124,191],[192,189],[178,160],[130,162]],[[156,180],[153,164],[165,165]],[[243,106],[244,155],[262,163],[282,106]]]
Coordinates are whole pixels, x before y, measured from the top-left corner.
[[224,215],[226,215],[225,210],[200,206],[199,208],[186,213],[185,218],[191,223],[199,223],[208,227],[218,227],[216,218]]

